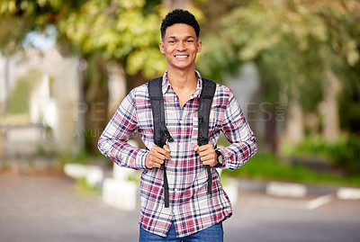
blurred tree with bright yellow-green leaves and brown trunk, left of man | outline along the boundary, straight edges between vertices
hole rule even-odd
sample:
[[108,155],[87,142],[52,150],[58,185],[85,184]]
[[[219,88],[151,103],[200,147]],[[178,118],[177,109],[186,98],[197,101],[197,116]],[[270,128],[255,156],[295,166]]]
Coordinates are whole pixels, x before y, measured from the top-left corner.
[[[159,13],[152,10],[157,4],[159,1],[86,1],[78,12],[58,22],[61,34],[80,49],[87,63],[85,103],[103,103],[105,119],[95,121],[93,113],[87,112],[88,129],[103,130],[112,115],[107,113],[109,62],[126,70],[128,91],[166,68],[157,50]],[[88,150],[96,150],[97,136],[85,137],[85,141]]]

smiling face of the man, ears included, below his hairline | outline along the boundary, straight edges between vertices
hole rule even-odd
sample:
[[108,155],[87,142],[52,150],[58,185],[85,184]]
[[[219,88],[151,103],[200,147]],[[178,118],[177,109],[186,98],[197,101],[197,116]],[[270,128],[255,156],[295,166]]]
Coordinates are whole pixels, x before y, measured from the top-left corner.
[[202,41],[197,40],[192,26],[175,23],[166,28],[159,48],[166,56],[167,68],[194,68],[196,54],[202,49]]

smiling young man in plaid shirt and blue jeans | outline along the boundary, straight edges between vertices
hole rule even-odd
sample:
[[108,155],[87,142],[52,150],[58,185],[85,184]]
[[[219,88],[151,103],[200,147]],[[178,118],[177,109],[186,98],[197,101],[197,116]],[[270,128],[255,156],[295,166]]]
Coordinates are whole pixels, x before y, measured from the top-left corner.
[[[166,57],[162,78],[166,128],[174,139],[154,144],[148,84],[134,88],[103,130],[99,149],[119,166],[143,170],[140,184],[139,241],[222,241],[222,221],[231,216],[216,167],[242,166],[257,152],[257,142],[232,91],[216,85],[209,123],[209,144],[198,146],[198,106],[202,77],[195,58],[202,49],[192,13],[176,9],[161,24],[159,49]],[[135,131],[147,149],[131,147]],[[215,148],[220,131],[231,143]],[[164,203],[164,167],[169,207]],[[211,167],[211,193],[207,167]]]

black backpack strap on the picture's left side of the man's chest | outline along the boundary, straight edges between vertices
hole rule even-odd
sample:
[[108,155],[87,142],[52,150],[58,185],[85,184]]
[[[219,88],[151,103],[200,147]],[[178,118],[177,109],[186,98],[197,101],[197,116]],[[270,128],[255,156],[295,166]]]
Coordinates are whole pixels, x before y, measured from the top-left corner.
[[[148,96],[150,98],[152,118],[154,124],[154,143],[163,148],[166,144],[166,139],[169,142],[174,141],[170,136],[169,131],[166,129],[164,98],[162,92],[162,77],[157,77],[148,82]],[[162,165],[164,168],[164,202],[165,207],[169,207],[169,187],[166,175],[165,163]]]

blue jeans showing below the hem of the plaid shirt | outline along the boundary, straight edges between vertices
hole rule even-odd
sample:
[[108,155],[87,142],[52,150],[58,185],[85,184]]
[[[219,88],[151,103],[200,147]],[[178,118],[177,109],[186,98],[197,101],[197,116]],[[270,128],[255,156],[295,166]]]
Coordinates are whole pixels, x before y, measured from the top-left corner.
[[139,231],[139,242],[148,242],[148,241],[172,241],[172,242],[222,242],[224,241],[224,230],[222,229],[222,222],[211,226],[210,228],[203,229],[195,234],[186,236],[183,238],[176,238],[175,225],[174,222],[171,224],[171,227],[165,237],[155,235],[148,232],[145,229],[142,229],[140,226]]

